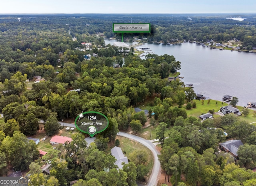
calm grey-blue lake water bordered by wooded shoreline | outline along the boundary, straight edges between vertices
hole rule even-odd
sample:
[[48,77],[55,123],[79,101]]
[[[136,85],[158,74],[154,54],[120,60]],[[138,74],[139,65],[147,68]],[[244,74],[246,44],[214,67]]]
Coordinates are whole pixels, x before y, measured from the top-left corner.
[[[105,40],[113,44],[115,40]],[[126,43],[130,45],[131,43]],[[180,76],[185,84],[206,98],[222,101],[228,94],[238,97],[238,105],[256,102],[256,54],[210,49],[194,43],[181,45],[144,44],[157,55],[173,55],[181,62]]]

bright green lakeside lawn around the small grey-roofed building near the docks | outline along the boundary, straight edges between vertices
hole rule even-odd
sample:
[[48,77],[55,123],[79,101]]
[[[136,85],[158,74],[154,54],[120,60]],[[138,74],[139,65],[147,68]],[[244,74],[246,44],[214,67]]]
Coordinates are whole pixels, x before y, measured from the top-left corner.
[[[227,103],[221,104],[221,101],[216,101],[216,100],[210,100],[210,103],[208,103],[208,100],[204,100],[204,104],[202,104],[202,100],[193,100],[196,102],[196,108],[192,108],[190,110],[186,110],[188,116],[194,116],[198,117],[202,113],[207,113],[209,110],[214,109],[214,112],[218,112],[220,110],[220,107],[228,105]],[[217,104],[216,104],[217,102]],[[184,107],[185,108],[185,107]],[[214,114],[213,117],[218,117],[219,115]]]

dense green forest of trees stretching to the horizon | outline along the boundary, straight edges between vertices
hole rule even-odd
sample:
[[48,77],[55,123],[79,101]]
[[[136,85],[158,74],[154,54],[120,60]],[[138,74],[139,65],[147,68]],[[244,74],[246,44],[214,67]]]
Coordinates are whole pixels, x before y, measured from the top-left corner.
[[[4,115],[0,120],[0,175],[6,175],[10,167],[29,168],[30,185],[67,185],[73,180],[79,180],[76,185],[136,185],[150,171],[142,158],[146,154],[134,153],[129,164],[117,170],[114,157],[107,153],[108,142],[116,142],[119,130],[140,133],[149,120],[161,144],[162,169],[172,175],[173,185],[255,185],[256,174],[250,170],[256,163],[255,126],[232,114],[204,122],[188,116],[186,110],[196,108],[194,90],[179,78],[168,81],[170,73],[180,70],[181,62],[167,54],[148,54],[142,60],[133,48],[124,53],[122,47],[104,43],[104,37],[115,36],[113,22],[132,18],[132,22],[152,24],[152,33],[137,35],[148,41],[236,38],[244,46],[256,47],[255,15],[246,15],[242,22],[226,16],[0,16],[0,112]],[[128,39],[133,36],[125,34]],[[42,79],[35,83],[39,76]],[[144,103],[153,108],[148,118],[134,110]],[[26,140],[42,130],[39,120],[52,136],[61,129],[58,120],[74,120],[82,110],[108,117],[109,126],[95,144],[86,148],[84,135],[76,133],[72,142],[40,159],[36,144]],[[218,154],[218,143],[226,140],[224,125],[230,138],[244,143],[236,162],[228,154]],[[167,129],[169,138],[164,135]],[[46,162],[52,162],[47,176],[40,169]]]

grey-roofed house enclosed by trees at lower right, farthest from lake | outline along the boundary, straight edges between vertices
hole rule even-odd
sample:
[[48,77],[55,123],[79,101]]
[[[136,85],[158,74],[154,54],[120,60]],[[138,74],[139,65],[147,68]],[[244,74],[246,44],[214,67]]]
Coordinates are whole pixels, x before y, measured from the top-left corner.
[[232,156],[237,158],[238,156],[237,151],[239,146],[241,145],[244,145],[241,140],[229,140],[229,141],[220,143],[220,149],[226,152],[230,152]]

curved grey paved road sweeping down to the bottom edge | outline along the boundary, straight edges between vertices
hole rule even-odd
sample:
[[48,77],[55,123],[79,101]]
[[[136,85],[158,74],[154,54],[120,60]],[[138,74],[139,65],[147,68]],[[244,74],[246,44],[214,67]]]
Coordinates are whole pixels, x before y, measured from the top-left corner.
[[158,174],[160,172],[160,162],[158,161],[158,156],[157,155],[159,153],[156,150],[156,146],[154,144],[152,144],[152,142],[150,142],[149,140],[145,140],[143,138],[140,138],[138,136],[134,136],[132,134],[127,134],[125,132],[118,132],[117,135],[135,140],[135,141],[141,143],[142,145],[146,146],[152,152],[152,154],[154,156],[154,165],[153,165],[153,169],[152,169],[150,178],[148,180],[148,186],[157,185],[157,183],[158,183]]

